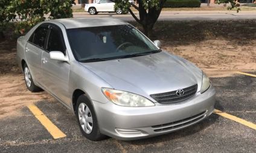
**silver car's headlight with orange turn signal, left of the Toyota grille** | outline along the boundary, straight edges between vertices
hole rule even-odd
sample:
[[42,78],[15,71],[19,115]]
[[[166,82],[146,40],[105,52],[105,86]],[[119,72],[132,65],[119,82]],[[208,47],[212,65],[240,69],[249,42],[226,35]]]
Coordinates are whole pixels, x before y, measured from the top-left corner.
[[102,88],[102,92],[109,101],[120,106],[146,107],[155,105],[149,99],[130,92],[123,92],[109,88]]

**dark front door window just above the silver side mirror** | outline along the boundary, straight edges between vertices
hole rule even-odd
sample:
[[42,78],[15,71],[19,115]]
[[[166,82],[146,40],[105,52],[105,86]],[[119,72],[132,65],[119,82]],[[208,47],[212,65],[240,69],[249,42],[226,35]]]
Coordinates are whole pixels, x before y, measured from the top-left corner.
[[62,32],[58,28],[52,27],[48,39],[47,51],[61,51],[65,54],[65,50]]

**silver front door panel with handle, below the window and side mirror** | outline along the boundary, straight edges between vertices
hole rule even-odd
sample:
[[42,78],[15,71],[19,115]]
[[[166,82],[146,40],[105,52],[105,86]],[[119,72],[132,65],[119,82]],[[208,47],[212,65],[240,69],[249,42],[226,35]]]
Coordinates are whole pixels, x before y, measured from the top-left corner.
[[69,104],[69,68],[70,65],[63,61],[51,60],[48,52],[42,55],[43,86],[61,101]]

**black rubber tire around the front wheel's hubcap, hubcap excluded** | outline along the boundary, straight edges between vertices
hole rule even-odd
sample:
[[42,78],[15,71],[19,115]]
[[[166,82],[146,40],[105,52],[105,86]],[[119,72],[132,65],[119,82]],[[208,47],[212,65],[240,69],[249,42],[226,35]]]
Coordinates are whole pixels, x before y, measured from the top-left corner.
[[[79,115],[78,114],[78,111],[79,111],[78,109],[79,109],[80,104],[82,104],[82,103],[86,104],[86,107],[89,108],[89,111],[91,112],[91,117],[92,117],[92,120],[93,120],[92,131],[89,134],[87,134],[83,130],[82,125],[79,121],[79,117],[78,117],[78,115]],[[97,117],[96,117],[96,114],[95,114],[95,111],[94,111],[94,107],[92,106],[91,102],[86,97],[86,95],[81,95],[81,96],[78,97],[76,108],[75,108],[75,116],[77,116],[77,122],[78,122],[79,128],[80,128],[83,136],[85,136],[87,139],[89,139],[91,141],[99,141],[99,140],[106,139],[106,136],[104,136],[103,134],[100,133],[100,129],[98,127]]]

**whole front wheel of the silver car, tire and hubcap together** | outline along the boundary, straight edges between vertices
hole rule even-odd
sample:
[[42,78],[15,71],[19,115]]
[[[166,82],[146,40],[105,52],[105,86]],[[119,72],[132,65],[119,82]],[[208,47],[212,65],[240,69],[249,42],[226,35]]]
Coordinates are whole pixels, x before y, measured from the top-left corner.
[[94,108],[85,95],[81,95],[77,99],[75,115],[77,116],[79,128],[87,139],[98,141],[106,137],[100,133]]

